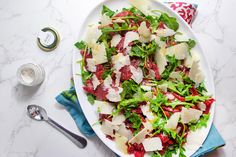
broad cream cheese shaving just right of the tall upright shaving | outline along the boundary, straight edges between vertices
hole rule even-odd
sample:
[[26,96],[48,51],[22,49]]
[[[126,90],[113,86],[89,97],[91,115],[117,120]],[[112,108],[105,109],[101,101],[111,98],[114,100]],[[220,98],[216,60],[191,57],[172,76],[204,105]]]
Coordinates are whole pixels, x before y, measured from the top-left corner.
[[180,43],[166,49],[166,54],[169,56],[175,56],[176,59],[182,60],[188,56],[188,45],[186,43]]

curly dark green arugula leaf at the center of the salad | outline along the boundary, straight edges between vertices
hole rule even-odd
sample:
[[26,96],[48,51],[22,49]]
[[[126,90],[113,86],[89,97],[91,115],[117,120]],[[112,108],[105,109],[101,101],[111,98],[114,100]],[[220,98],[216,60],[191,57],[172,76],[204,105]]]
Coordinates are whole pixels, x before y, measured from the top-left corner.
[[123,91],[121,93],[121,99],[132,98],[135,93],[138,92],[139,86],[133,80],[126,80],[122,83]]

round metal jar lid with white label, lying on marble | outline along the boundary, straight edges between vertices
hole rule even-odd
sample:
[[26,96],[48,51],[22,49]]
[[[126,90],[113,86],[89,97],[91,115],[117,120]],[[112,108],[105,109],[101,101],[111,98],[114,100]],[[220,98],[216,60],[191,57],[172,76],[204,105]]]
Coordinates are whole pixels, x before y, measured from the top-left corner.
[[39,48],[47,52],[57,48],[59,42],[60,36],[58,32],[51,27],[41,29],[37,37],[37,44]]

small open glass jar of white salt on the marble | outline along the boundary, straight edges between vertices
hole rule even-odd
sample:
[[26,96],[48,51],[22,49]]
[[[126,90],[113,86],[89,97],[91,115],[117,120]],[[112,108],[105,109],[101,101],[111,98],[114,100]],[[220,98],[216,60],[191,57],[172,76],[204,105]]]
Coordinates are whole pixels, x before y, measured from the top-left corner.
[[25,86],[36,86],[44,81],[45,71],[42,66],[37,64],[23,64],[17,70],[17,79]]

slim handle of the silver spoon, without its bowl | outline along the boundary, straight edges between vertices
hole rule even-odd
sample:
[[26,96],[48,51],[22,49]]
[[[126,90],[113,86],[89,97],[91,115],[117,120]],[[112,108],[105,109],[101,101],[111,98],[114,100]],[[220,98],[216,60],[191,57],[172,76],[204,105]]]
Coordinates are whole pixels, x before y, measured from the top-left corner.
[[62,127],[60,124],[52,120],[48,117],[48,120],[46,120],[50,125],[55,127],[57,130],[59,130],[61,133],[63,133],[66,137],[68,137],[74,144],[76,144],[80,148],[84,148],[87,145],[87,140],[79,135],[76,135],[69,130]]

